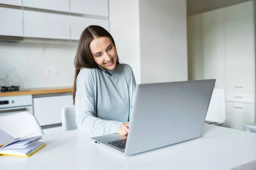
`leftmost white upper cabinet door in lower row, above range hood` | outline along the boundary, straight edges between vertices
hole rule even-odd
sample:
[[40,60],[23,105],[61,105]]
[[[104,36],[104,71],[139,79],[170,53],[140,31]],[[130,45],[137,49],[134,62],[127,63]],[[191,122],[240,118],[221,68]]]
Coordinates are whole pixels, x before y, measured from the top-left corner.
[[0,35],[23,36],[22,10],[0,7]]

